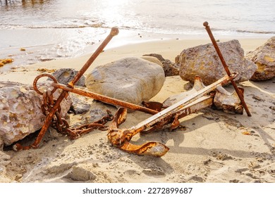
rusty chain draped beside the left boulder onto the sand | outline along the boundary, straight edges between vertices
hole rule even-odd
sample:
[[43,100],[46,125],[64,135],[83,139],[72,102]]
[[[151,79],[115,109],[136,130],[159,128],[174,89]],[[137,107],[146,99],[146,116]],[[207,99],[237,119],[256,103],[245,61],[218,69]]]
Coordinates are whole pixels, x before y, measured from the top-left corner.
[[[50,90],[43,92],[43,103],[41,106],[42,113],[48,115],[51,108],[54,107],[56,99]],[[54,114],[53,119],[51,120],[51,127],[56,129],[57,132],[61,134],[66,134],[70,139],[78,139],[82,134],[87,134],[93,129],[106,130],[108,127],[105,126],[106,122],[109,122],[114,119],[114,116],[111,114],[110,110],[106,110],[107,114],[104,115],[100,120],[92,122],[90,124],[80,125],[78,127],[70,127],[68,122],[61,117],[61,106]]]

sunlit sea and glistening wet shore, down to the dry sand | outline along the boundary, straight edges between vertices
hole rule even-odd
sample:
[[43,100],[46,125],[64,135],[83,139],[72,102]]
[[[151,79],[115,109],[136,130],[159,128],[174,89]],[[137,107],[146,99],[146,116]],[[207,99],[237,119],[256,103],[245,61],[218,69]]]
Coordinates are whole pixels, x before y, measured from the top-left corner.
[[275,1],[0,0],[0,58],[11,57],[17,66],[80,56],[111,27],[123,32],[120,44],[200,36],[204,21],[215,35],[269,38],[275,35]]

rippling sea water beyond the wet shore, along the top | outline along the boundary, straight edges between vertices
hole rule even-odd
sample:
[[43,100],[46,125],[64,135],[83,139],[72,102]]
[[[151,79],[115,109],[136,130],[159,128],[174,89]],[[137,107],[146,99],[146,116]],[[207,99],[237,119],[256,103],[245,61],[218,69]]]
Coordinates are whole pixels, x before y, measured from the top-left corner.
[[273,0],[0,2],[1,29],[117,26],[147,32],[201,34],[202,23],[208,20],[222,34],[275,33]]

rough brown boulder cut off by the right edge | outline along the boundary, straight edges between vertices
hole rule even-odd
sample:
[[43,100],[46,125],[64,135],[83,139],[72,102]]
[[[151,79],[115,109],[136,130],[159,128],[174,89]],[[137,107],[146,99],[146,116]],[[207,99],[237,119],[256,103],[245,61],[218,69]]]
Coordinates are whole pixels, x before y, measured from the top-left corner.
[[255,51],[247,53],[245,57],[257,65],[251,80],[269,80],[275,77],[275,37],[271,37]]

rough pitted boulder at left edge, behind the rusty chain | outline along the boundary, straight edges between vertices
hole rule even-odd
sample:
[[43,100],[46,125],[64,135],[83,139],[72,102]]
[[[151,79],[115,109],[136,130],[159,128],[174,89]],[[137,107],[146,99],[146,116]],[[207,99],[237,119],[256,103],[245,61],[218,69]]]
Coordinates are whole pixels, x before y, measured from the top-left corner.
[[[50,82],[42,82],[39,89],[50,86]],[[60,94],[56,90],[54,98]],[[33,87],[16,82],[0,82],[0,137],[4,145],[23,139],[44,125],[45,116],[41,105],[43,98]],[[61,116],[66,115],[71,106],[70,97],[64,98],[61,103]]]

